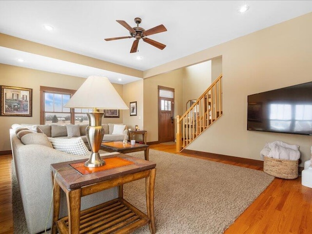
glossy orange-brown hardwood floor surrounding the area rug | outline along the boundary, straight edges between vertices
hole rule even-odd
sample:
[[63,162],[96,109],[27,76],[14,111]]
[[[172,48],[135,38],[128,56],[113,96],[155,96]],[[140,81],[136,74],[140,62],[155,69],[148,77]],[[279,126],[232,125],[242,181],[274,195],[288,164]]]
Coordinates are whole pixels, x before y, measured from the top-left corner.
[[[176,145],[156,144],[150,149],[176,154]],[[192,156],[179,153],[181,156]],[[261,167],[194,156],[205,160],[262,170]],[[13,234],[12,156],[0,156],[0,234]],[[157,217],[156,217],[157,218]],[[312,188],[301,185],[301,177],[275,178],[269,187],[225,231],[225,234],[311,234]]]

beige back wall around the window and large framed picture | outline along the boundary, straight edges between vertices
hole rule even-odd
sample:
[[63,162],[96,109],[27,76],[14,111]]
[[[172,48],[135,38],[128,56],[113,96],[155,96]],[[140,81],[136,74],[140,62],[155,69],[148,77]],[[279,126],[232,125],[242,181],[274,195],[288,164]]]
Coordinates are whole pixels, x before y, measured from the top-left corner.
[[[0,85],[16,86],[33,89],[33,116],[32,117],[0,117],[0,151],[11,150],[9,129],[14,123],[39,124],[40,122],[40,86],[57,87],[64,89],[78,89],[85,78],[72,77],[57,73],[44,72],[34,69],[0,64]],[[122,85],[113,86],[122,97]],[[103,118],[103,123],[122,123],[123,113],[119,118]]]

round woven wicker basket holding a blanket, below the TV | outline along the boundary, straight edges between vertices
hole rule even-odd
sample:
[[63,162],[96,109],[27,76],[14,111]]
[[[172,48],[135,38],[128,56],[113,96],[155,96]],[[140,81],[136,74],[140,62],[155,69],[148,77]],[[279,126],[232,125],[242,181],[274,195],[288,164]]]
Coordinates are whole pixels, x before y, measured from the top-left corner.
[[271,176],[295,179],[298,177],[298,161],[264,156],[263,171]]

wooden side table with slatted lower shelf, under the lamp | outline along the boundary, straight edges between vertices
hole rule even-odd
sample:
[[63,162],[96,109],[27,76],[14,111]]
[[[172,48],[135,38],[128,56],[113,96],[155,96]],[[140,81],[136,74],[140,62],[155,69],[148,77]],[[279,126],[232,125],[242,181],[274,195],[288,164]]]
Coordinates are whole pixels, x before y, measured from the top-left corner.
[[[117,158],[118,157],[118,158]],[[51,233],[132,233],[149,224],[155,234],[154,186],[156,164],[144,159],[118,154],[102,157],[108,168],[118,160],[130,165],[101,170],[83,175],[73,165],[83,165],[83,160],[51,164],[53,189],[53,221]],[[121,159],[120,159],[121,158]],[[110,162],[109,162],[110,160]],[[83,168],[82,168],[83,170]],[[103,170],[103,169],[102,169]],[[55,179],[54,179],[55,177]],[[147,215],[123,199],[123,184],[145,178]],[[81,197],[118,186],[118,198],[80,212]],[[66,194],[68,216],[59,219],[60,189]]]

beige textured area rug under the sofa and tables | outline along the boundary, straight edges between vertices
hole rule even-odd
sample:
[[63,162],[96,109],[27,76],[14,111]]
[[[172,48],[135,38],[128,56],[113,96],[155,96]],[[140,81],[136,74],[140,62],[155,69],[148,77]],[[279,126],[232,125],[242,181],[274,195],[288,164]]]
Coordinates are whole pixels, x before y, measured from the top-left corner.
[[[130,155],[144,158],[143,152]],[[272,182],[262,171],[150,150],[156,162],[156,234],[222,234]],[[13,170],[12,170],[13,171]],[[27,234],[14,173],[15,234]],[[146,213],[145,180],[124,185],[124,197]],[[149,234],[147,226],[135,234]]]

